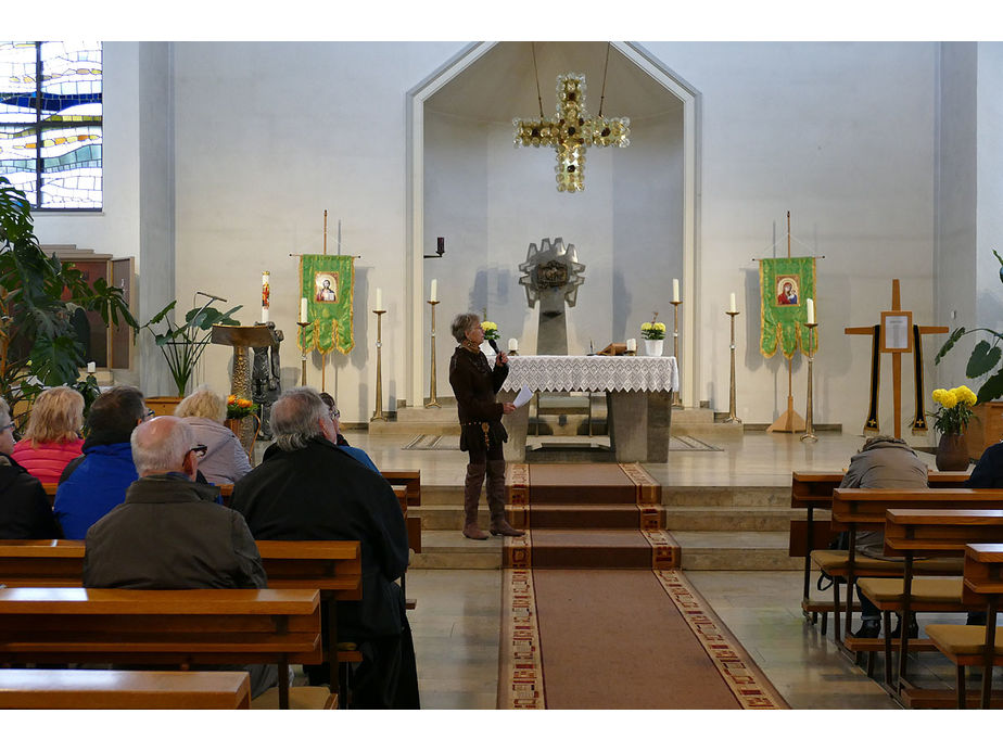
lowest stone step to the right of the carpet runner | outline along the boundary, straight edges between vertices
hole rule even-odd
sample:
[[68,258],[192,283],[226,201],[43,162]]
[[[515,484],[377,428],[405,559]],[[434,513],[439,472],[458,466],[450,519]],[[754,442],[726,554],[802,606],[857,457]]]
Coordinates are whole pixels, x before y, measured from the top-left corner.
[[675,532],[684,570],[801,570],[804,560],[787,556],[780,532]]

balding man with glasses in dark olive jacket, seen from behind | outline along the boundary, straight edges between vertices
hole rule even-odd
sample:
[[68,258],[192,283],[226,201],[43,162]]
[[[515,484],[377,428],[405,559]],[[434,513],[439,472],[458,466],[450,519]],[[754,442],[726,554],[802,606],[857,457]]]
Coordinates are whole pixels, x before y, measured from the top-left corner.
[[[244,519],[195,483],[201,446],[180,418],[163,416],[132,431],[139,480],[125,502],[87,532],[84,587],[137,590],[264,588],[268,578]],[[251,696],[277,684],[274,665],[240,666]]]

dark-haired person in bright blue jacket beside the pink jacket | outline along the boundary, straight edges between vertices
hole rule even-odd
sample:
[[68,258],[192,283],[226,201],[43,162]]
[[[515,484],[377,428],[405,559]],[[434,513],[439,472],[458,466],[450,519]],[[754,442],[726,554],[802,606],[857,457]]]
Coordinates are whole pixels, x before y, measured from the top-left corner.
[[55,492],[53,510],[64,537],[82,540],[88,527],[125,500],[138,477],[129,436],[152,416],[135,386],[113,386],[91,405],[84,456],[66,466]]

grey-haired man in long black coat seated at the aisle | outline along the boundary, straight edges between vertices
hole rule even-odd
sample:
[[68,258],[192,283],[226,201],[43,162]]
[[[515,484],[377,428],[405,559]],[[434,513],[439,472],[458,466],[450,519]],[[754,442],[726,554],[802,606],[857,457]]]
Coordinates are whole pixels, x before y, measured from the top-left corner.
[[[334,445],[330,410],[316,390],[285,391],[271,407],[276,443],[233,486],[232,508],[256,539],[358,540],[363,599],[338,601],[340,640],[359,643],[353,708],[417,709],[418,674],[404,596],[407,530],[393,488]],[[326,667],[308,670],[313,683]]]

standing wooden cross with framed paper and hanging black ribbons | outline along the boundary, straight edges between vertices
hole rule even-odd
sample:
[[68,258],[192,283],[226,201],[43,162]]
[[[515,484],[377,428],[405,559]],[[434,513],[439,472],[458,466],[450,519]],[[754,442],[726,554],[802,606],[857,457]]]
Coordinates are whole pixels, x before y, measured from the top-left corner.
[[[901,296],[899,294],[899,280],[891,280],[891,310],[881,311],[881,322],[871,327],[847,327],[843,331],[847,334],[869,334],[878,337],[873,347],[872,386],[871,386],[871,409],[867,421],[864,424],[864,431],[877,431],[877,395],[880,385],[878,374],[880,373],[880,362],[878,358],[880,353],[891,353],[891,380],[894,395],[894,436],[902,437],[902,353],[912,353],[914,347],[914,333],[918,334],[947,334],[948,327],[913,327],[913,313],[902,310]],[[926,420],[923,415],[923,371],[922,361],[919,360],[919,342],[915,343],[918,350],[916,355],[916,418],[913,422],[914,430],[926,430]]]

